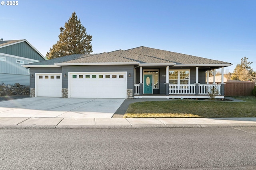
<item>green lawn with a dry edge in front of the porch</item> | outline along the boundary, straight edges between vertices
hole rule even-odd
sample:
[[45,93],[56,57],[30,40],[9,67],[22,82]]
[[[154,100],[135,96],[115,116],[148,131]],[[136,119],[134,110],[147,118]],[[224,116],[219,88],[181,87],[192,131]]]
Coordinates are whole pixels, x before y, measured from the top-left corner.
[[170,100],[130,104],[124,118],[134,117],[256,117],[256,97],[236,96],[246,102]]

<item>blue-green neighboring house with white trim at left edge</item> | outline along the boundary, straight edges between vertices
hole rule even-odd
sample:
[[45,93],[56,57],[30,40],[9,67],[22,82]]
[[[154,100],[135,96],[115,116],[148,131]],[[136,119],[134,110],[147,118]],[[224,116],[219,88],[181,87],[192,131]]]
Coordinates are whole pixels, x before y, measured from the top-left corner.
[[0,39],[0,84],[29,85],[30,70],[22,65],[44,60],[44,56],[26,39]]

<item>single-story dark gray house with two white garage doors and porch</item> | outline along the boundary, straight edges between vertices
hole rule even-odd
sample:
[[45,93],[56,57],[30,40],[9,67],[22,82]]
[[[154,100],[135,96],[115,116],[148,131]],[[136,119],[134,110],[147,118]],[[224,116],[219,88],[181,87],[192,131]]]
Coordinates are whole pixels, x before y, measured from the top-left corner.
[[[216,86],[206,72],[232,64],[137,47],[108,53],[70,55],[24,64],[30,68],[30,96],[62,98],[208,98]],[[207,74],[209,75],[209,74]],[[223,80],[223,78],[222,78]]]

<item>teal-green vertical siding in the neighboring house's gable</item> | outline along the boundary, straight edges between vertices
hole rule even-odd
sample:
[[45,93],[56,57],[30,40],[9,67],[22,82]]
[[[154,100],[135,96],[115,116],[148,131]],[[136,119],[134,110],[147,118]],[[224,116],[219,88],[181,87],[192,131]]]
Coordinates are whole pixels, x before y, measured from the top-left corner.
[[16,55],[28,59],[44,61],[45,59],[39,55],[28,43],[22,42],[7,47],[0,48],[0,53]]

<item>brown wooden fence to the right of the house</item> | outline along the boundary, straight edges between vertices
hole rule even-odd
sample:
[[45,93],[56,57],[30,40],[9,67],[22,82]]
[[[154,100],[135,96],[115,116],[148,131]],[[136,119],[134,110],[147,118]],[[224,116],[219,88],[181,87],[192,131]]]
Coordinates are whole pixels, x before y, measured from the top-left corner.
[[225,96],[252,96],[255,82],[226,82],[224,86]]

